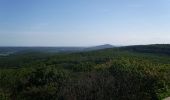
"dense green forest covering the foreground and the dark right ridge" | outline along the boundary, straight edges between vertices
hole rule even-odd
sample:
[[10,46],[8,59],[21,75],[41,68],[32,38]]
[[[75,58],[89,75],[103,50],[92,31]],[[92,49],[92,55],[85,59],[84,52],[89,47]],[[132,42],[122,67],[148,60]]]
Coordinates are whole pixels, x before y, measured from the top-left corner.
[[170,45],[0,56],[1,100],[162,100]]

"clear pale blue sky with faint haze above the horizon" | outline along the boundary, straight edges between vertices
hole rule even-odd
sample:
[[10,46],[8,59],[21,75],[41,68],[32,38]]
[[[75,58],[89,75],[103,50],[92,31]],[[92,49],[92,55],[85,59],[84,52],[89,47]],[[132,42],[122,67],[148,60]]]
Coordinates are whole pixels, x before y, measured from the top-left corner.
[[0,0],[0,46],[170,44],[170,0]]

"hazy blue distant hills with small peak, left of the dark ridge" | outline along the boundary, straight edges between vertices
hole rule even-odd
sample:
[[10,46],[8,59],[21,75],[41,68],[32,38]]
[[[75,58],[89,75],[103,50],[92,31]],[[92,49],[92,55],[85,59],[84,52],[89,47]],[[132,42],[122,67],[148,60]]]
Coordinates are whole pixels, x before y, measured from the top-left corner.
[[0,47],[0,56],[6,56],[14,53],[27,52],[47,52],[47,53],[61,53],[61,52],[84,52],[92,50],[101,50],[106,48],[113,48],[114,46],[105,44],[93,47]]

